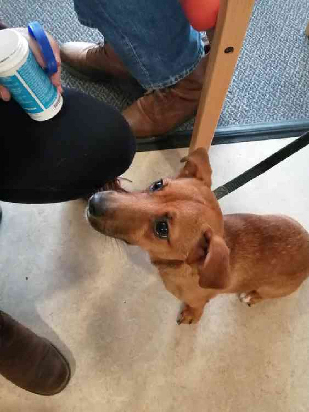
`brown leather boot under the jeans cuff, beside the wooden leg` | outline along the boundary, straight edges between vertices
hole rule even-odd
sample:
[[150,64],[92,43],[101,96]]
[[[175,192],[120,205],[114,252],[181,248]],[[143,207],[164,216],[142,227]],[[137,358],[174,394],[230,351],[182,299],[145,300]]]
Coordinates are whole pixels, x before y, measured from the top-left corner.
[[122,114],[136,137],[167,133],[193,117],[200,100],[208,56],[195,70],[171,87],[153,90],[126,108]]

